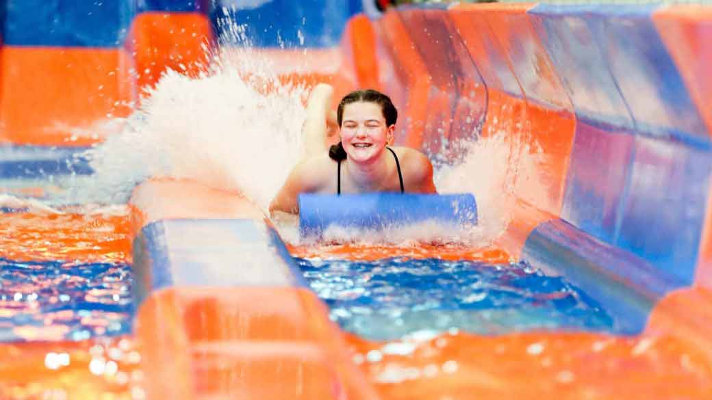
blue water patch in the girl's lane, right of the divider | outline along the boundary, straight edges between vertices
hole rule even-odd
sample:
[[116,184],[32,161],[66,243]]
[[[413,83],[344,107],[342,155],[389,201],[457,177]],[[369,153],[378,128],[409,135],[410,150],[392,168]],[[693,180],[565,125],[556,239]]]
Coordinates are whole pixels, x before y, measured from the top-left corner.
[[609,331],[596,302],[560,277],[525,263],[389,258],[374,262],[295,259],[344,330],[372,340],[464,330]]

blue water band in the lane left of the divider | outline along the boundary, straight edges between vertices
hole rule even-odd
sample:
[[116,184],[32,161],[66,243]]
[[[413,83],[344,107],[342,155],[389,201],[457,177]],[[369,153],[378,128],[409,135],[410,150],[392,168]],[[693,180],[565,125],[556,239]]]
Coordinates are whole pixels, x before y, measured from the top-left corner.
[[0,258],[0,341],[130,333],[131,283],[128,264]]

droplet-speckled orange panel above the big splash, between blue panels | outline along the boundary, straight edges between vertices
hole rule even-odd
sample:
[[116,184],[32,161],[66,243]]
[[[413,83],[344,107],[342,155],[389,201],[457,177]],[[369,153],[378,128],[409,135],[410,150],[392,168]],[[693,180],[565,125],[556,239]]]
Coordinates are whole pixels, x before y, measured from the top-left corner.
[[207,70],[213,42],[212,26],[204,14],[139,14],[128,41],[135,59],[137,85],[155,85],[168,68],[196,78]]

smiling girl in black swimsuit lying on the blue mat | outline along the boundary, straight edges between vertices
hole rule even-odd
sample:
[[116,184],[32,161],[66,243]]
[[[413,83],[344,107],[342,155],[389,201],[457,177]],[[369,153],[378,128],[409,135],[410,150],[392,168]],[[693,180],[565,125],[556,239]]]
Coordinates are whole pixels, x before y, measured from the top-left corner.
[[[300,193],[436,193],[425,154],[389,146],[398,112],[387,95],[377,90],[349,93],[335,118],[328,109],[332,95],[333,88],[325,84],[310,93],[303,126],[306,155],[272,200],[271,212],[298,214]],[[327,152],[326,140],[336,134],[340,142]]]

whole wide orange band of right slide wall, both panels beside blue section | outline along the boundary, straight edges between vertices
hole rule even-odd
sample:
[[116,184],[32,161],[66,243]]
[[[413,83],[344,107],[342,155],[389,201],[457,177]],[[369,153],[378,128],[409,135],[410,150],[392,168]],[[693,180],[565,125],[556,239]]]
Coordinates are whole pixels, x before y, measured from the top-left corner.
[[[497,244],[515,258],[533,228],[560,213],[575,132],[570,100],[530,24],[532,6],[461,4],[449,9],[488,83],[482,135],[504,135],[509,147],[501,191],[514,201],[502,213],[511,216],[511,223]],[[519,90],[515,95],[521,98],[506,88]],[[528,88],[536,92],[529,93],[532,98]]]

